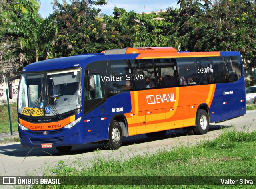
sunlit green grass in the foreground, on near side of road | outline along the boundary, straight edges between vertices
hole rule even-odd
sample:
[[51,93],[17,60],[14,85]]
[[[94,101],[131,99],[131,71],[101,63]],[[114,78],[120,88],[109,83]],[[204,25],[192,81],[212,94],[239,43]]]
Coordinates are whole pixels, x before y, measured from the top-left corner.
[[[232,130],[214,140],[204,140],[197,146],[181,146],[172,150],[162,150],[155,154],[146,153],[128,159],[96,158],[91,162],[91,166],[82,165],[78,161],[73,163],[72,167],[68,167],[64,161],[58,161],[56,166],[48,169],[48,173],[45,173],[44,176],[78,176],[80,179],[92,176],[88,182],[92,185],[55,185],[54,188],[169,188],[170,186],[162,184],[171,184],[168,179],[173,178],[170,176],[184,176],[174,177],[175,183],[181,182],[180,185],[172,186],[174,188],[222,188],[221,185],[200,185],[200,183],[202,180],[208,179],[205,176],[254,177],[256,175],[255,144],[256,132]],[[188,185],[192,182],[191,178],[186,180],[188,179],[187,176],[196,176],[194,179],[198,179],[196,180],[198,185],[185,186],[184,184],[187,183]],[[103,180],[106,178],[113,179],[112,185],[97,185],[104,183]],[[128,181],[129,178],[134,180]],[[138,180],[138,178],[151,180],[147,180],[143,184],[143,181]],[[156,182],[162,179],[161,185],[150,185],[153,182],[152,179],[155,179]],[[180,181],[180,179],[182,180]],[[65,182],[65,180],[63,181]],[[136,185],[117,185],[124,183],[124,181],[126,184],[135,182]],[[79,181],[75,183],[79,183]],[[218,184],[220,184],[219,180]],[[240,187],[252,188],[251,185],[231,186],[231,188]],[[34,186],[34,188],[50,187],[41,185]]]

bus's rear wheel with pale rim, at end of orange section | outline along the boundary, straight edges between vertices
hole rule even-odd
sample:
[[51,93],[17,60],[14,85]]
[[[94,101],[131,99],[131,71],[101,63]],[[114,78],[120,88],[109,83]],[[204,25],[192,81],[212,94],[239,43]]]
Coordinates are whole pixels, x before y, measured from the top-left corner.
[[193,129],[194,134],[206,134],[209,130],[209,116],[205,110],[198,110],[196,114],[196,126]]

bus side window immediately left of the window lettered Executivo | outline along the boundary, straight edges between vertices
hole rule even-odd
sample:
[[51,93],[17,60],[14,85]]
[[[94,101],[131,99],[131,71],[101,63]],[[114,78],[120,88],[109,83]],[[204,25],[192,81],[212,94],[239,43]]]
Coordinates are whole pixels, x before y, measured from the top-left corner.
[[195,58],[177,58],[180,85],[198,84]]

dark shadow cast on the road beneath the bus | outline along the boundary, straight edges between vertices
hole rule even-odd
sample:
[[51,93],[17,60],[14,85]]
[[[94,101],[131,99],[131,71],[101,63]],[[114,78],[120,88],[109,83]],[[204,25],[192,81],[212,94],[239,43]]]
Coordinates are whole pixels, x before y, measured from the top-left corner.
[[[230,128],[232,126],[224,125],[210,125],[209,132],[214,130],[220,130],[224,128]],[[147,137],[145,134],[140,134],[136,136],[124,137],[122,146],[128,146],[132,144],[141,144],[145,142],[164,140],[168,138],[177,138],[180,136],[185,136],[186,131],[182,130],[169,130],[163,137]],[[84,144],[73,146],[70,152],[60,153],[56,148],[23,148],[20,143],[10,144],[6,146],[0,146],[0,153],[7,156],[14,157],[34,157],[34,156],[63,156],[63,155],[76,155],[87,152],[93,152],[95,150],[105,150],[104,144]]]

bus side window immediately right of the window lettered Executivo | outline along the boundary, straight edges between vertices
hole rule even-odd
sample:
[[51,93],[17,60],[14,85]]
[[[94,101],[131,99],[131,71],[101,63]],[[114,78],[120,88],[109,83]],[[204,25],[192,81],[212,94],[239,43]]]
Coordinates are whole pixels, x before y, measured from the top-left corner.
[[229,82],[228,69],[223,57],[212,57],[212,66],[216,83]]

